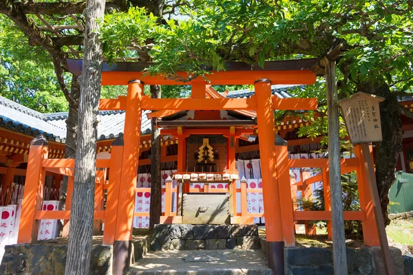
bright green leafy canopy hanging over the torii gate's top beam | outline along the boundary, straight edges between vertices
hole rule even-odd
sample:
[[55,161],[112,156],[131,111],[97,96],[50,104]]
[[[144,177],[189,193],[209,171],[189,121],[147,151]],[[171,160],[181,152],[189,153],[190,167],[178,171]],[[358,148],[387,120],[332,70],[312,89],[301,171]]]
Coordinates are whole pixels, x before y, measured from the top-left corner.
[[[127,56],[135,41],[150,48],[149,72],[189,79],[225,69],[225,61],[325,56],[341,41],[348,50],[339,63],[342,96],[354,83],[384,76],[394,89],[411,91],[413,50],[411,1],[193,0],[179,7],[180,20],[156,25],[142,10],[112,14],[102,32],[109,58]],[[183,16],[182,16],[183,15]],[[319,96],[317,96],[319,97]]]

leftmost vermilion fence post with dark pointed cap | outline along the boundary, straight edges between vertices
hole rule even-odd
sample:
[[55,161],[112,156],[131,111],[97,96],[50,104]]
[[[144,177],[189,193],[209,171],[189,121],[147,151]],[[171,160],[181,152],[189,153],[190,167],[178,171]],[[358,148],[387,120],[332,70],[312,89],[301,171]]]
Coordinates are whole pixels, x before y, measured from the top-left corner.
[[45,168],[43,168],[43,159],[47,159],[48,153],[49,143],[43,135],[38,135],[30,142],[17,243],[31,243],[33,239],[37,238],[39,221],[36,221],[34,217],[36,211],[41,210],[43,201],[43,184],[46,173]]

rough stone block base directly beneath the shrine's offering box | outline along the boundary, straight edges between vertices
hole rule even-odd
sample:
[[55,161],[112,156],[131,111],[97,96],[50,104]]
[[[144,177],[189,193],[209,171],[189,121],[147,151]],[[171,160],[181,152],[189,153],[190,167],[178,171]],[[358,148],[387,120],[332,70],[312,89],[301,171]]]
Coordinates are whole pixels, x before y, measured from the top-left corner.
[[156,225],[152,250],[217,250],[260,248],[257,225]]

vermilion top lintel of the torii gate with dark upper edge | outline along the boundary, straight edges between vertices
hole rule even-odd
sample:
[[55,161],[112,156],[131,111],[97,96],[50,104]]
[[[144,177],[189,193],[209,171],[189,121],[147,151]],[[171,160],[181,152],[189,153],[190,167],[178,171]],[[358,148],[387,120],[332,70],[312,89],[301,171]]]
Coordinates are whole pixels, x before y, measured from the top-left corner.
[[[205,76],[210,85],[253,85],[256,80],[266,78],[271,84],[313,85],[316,74],[311,70],[317,64],[317,58],[297,59],[288,61],[267,61],[263,67],[240,62],[226,63],[226,71],[214,72]],[[189,85],[183,80],[168,79],[164,75],[150,76],[145,70],[152,63],[121,62],[102,65],[102,85],[127,85],[131,79],[142,80],[145,85]],[[67,65],[72,74],[79,76],[82,72],[81,59],[67,59]],[[187,79],[186,72],[178,72],[177,76]],[[204,82],[197,78],[192,83]]]

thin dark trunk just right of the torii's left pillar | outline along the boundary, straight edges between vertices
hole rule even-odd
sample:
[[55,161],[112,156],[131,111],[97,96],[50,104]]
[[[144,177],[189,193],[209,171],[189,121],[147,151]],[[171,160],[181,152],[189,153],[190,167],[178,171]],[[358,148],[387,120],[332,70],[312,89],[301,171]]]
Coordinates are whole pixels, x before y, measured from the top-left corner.
[[[151,86],[151,98],[160,98],[161,90],[159,85]],[[161,171],[162,163],[160,160],[160,129],[156,128],[151,122],[151,207],[149,210],[149,230],[159,223],[162,214],[162,185]]]

